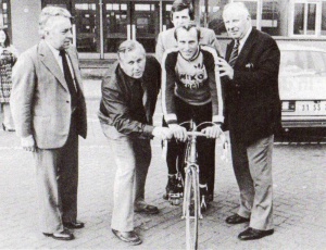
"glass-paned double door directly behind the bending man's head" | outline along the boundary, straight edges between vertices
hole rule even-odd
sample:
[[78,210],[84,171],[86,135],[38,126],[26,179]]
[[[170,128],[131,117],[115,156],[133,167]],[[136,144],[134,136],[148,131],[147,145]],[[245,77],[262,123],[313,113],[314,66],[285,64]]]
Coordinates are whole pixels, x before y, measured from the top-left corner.
[[135,39],[154,52],[160,33],[160,1],[103,1],[104,52],[116,52],[120,43]]

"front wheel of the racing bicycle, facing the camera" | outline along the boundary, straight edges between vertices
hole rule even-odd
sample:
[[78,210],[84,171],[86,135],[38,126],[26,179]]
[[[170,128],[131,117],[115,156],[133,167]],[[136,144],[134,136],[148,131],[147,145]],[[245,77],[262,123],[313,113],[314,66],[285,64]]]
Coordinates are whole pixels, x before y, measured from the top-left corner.
[[186,218],[186,246],[188,250],[198,248],[198,220],[200,210],[199,176],[196,167],[186,175],[185,218]]

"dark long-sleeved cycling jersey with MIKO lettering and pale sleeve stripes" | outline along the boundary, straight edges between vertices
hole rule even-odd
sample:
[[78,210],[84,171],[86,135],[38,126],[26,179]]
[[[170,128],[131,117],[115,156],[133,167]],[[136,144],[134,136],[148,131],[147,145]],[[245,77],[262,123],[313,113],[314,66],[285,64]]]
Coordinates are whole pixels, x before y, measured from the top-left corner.
[[216,51],[199,46],[190,60],[177,48],[165,52],[162,60],[162,105],[167,124],[177,123],[175,97],[190,105],[212,102],[212,122],[223,123],[223,101]]

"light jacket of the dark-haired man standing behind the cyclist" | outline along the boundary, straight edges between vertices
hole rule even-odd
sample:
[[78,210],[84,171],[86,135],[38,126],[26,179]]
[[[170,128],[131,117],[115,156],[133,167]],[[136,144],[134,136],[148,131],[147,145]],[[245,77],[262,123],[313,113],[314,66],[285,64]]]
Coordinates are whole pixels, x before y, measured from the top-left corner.
[[[156,48],[155,48],[155,57],[158,61],[161,63],[163,53],[167,49],[176,48],[177,41],[174,37],[175,28],[170,28],[165,32],[159,34]],[[217,52],[217,55],[221,55],[221,47],[216,39],[215,33],[210,28],[202,28],[200,27],[200,45],[205,45],[214,48]]]

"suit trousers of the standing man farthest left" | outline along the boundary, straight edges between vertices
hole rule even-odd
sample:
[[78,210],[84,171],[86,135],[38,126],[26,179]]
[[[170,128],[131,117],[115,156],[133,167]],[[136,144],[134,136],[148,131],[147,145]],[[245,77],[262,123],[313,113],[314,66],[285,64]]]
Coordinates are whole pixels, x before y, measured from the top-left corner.
[[63,223],[77,218],[78,135],[75,122],[62,148],[37,149],[34,158],[41,232],[61,232]]

